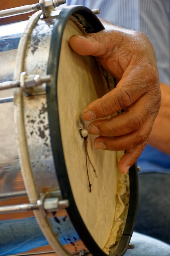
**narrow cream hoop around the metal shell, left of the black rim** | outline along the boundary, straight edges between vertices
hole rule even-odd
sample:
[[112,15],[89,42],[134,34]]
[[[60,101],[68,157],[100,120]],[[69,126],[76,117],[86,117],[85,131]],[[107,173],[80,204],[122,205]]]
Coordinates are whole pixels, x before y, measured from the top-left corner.
[[[28,38],[30,33],[32,32],[35,24],[40,19],[40,15],[42,11],[38,11],[33,14],[24,30],[20,38],[20,43],[18,45],[17,56],[16,56],[16,64],[14,70],[14,81],[20,80],[20,73],[24,70],[24,56],[26,52],[26,47],[28,43]],[[14,122],[15,122],[15,134],[17,138],[18,144],[18,155],[20,158],[20,166],[21,166],[21,173],[22,178],[24,180],[24,185],[26,187],[26,191],[29,197],[29,201],[31,203],[36,203],[38,198],[38,193],[36,191],[34,185],[34,178],[31,170],[31,163],[29,159],[28,153],[28,146],[26,142],[26,132],[24,127],[24,113],[22,108],[22,101],[23,101],[23,92],[21,88],[14,89]],[[32,187],[30,189],[30,184]],[[69,252],[62,246],[60,241],[58,240],[57,236],[53,232],[51,226],[46,217],[43,216],[41,211],[33,211],[35,218],[44,234],[46,239],[48,240],[51,247],[54,251],[62,256],[70,255]]]

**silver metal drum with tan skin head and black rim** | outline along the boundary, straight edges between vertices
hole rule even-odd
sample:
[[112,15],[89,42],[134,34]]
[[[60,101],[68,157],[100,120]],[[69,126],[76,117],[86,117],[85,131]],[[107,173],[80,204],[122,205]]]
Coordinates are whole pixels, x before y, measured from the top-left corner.
[[[41,15],[0,27],[1,89],[10,88],[0,90],[0,213],[33,210],[57,255],[123,255],[137,212],[136,166],[121,174],[124,152],[96,150],[95,136],[82,136],[84,107],[114,79],[68,43],[103,26],[82,6]],[[9,205],[25,195],[26,204]]]

